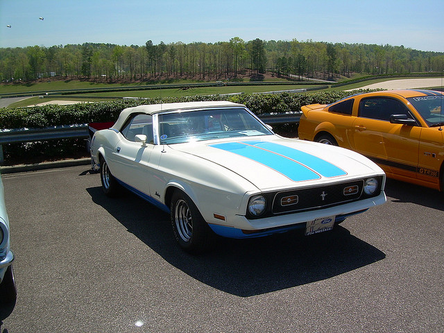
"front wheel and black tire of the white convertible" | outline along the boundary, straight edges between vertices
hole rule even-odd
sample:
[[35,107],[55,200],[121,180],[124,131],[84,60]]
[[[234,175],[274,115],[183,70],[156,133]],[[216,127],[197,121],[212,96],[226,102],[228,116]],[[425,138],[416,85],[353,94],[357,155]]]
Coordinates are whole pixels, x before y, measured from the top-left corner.
[[214,233],[193,200],[184,192],[176,190],[171,198],[170,208],[171,226],[179,246],[193,254],[208,250]]

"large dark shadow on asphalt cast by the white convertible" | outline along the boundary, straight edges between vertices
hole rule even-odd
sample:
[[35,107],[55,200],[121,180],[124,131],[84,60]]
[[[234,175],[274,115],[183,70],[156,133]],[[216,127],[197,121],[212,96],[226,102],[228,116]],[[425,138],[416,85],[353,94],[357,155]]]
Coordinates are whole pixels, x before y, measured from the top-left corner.
[[94,203],[169,264],[235,296],[255,296],[325,280],[385,258],[382,251],[341,226],[310,237],[287,232],[257,239],[220,239],[210,253],[193,256],[176,245],[168,214],[130,193],[110,199],[101,187],[87,191]]

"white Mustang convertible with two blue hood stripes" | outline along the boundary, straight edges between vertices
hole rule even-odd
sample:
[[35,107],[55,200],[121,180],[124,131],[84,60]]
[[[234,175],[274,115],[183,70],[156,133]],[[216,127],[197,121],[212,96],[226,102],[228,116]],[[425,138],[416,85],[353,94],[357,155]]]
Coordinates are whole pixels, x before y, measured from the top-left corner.
[[226,101],[127,108],[96,131],[91,154],[106,195],[123,186],[169,212],[178,244],[194,253],[214,234],[331,230],[386,201],[384,171],[366,157],[280,137]]

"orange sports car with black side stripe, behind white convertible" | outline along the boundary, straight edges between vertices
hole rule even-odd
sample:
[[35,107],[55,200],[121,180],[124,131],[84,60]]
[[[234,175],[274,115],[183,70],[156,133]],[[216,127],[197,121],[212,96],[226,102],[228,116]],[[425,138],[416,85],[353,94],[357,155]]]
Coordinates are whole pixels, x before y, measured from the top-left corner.
[[391,178],[444,191],[444,93],[392,90],[302,106],[299,138],[373,160]]

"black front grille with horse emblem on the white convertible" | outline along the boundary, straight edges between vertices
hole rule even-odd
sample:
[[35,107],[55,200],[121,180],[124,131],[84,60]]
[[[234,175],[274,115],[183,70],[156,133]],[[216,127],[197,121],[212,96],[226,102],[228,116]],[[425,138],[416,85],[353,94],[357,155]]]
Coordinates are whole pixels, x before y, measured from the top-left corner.
[[364,180],[354,180],[335,185],[278,192],[273,198],[271,211],[273,214],[283,214],[358,200],[363,187]]

